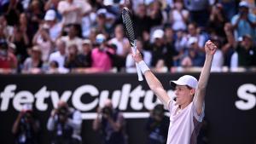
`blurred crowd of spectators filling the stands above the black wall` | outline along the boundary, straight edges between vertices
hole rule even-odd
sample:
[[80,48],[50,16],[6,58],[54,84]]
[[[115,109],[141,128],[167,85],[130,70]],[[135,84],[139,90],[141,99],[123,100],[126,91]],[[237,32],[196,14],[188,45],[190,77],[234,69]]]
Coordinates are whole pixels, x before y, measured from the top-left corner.
[[137,49],[155,72],[256,66],[253,0],[2,0],[1,73],[136,72],[121,9],[132,11]]

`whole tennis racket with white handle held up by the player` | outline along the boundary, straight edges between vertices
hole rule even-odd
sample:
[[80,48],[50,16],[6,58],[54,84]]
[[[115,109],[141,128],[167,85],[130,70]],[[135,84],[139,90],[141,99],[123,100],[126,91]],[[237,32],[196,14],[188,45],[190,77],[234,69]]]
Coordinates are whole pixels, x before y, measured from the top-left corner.
[[[123,19],[123,25],[126,33],[126,37],[129,40],[129,43],[131,44],[131,50],[133,54],[136,54],[137,51],[137,45],[136,45],[136,38],[134,33],[134,25],[131,20],[131,12],[127,8],[122,9],[122,19]],[[140,70],[140,68],[137,66],[137,63],[135,63],[137,68],[137,76],[138,81],[143,81],[143,74]]]

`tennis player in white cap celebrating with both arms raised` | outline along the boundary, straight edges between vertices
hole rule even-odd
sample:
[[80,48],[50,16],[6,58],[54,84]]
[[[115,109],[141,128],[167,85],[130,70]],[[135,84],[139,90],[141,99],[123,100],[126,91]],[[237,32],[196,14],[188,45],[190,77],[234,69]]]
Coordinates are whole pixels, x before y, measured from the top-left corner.
[[176,101],[167,95],[160,81],[143,61],[139,51],[133,55],[133,59],[143,72],[149,88],[171,112],[167,144],[196,144],[196,138],[204,118],[207,82],[216,49],[216,45],[210,40],[205,44],[206,60],[199,81],[189,75],[171,81],[171,85],[175,87]]

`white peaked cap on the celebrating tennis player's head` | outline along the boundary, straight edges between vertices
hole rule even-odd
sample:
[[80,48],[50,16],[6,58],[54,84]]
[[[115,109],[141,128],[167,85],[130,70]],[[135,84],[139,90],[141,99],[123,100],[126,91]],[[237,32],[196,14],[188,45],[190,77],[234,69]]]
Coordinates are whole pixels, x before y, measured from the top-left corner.
[[197,87],[197,79],[193,76],[190,75],[184,75],[181,78],[178,78],[176,81],[171,81],[170,83],[173,87],[175,87],[176,85],[187,85],[191,88],[196,89]]

